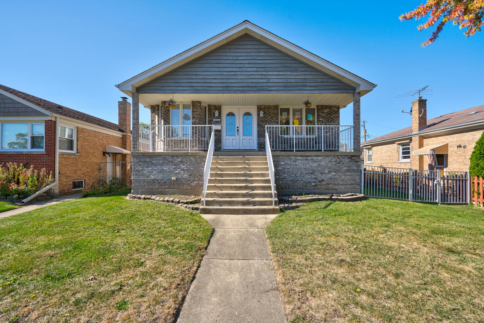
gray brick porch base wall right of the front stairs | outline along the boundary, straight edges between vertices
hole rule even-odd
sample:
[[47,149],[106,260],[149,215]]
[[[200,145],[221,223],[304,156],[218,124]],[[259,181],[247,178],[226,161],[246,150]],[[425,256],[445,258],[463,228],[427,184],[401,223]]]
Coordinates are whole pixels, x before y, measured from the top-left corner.
[[[272,153],[276,190],[284,194],[343,194],[361,190],[358,153]],[[312,183],[316,185],[312,185]]]

